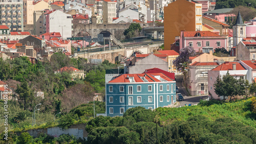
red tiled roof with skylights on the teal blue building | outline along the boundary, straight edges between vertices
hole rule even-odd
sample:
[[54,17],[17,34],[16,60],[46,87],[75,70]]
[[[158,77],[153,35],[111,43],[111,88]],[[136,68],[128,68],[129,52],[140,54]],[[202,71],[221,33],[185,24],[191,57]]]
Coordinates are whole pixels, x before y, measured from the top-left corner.
[[[127,77],[129,76],[129,77]],[[123,74],[111,80],[109,83],[130,83],[129,78],[133,77],[135,82],[144,82],[140,77],[144,77],[148,82],[161,82],[155,76],[160,76],[166,81],[174,81],[162,73],[146,73],[146,74]]]

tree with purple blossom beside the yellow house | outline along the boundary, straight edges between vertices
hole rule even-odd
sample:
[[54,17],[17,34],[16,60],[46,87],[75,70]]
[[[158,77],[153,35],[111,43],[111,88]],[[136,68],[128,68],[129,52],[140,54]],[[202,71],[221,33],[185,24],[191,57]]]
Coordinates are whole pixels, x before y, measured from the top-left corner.
[[184,74],[189,57],[194,57],[195,55],[196,52],[194,50],[194,47],[186,46],[180,49],[180,55],[173,61],[173,65],[176,67],[176,69],[183,71]]

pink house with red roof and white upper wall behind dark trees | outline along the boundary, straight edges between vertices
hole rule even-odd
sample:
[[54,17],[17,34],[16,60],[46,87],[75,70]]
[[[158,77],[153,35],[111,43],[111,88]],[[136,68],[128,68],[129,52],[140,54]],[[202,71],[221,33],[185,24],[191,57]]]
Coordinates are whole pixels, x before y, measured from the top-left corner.
[[[214,99],[223,99],[218,97],[214,90],[214,83],[219,76],[221,79],[227,74],[233,76],[236,79],[248,79],[248,70],[239,62],[224,62],[214,69],[208,70],[208,91]],[[225,98],[227,99],[227,98]]]

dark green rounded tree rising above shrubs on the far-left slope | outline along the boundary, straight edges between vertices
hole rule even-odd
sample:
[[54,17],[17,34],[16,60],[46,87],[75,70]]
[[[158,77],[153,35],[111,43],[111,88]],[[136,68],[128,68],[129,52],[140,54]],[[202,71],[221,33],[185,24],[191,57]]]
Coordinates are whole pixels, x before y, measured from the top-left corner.
[[24,103],[24,110],[27,110],[27,105],[35,99],[34,91],[26,81],[17,85],[17,89],[15,91],[19,95],[18,99]]

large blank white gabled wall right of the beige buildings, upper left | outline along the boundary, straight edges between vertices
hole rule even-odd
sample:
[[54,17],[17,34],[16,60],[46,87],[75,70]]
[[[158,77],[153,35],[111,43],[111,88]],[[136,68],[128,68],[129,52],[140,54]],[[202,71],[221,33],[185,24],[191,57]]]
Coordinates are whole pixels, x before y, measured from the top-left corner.
[[49,32],[59,32],[63,39],[72,37],[72,16],[59,10],[49,14]]

